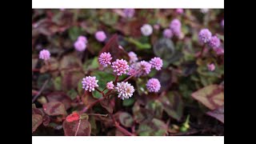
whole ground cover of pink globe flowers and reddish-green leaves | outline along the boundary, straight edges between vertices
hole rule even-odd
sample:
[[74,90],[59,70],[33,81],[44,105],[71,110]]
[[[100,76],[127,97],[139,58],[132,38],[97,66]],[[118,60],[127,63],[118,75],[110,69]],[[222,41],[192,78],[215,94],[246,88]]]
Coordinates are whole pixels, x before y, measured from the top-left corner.
[[224,134],[224,10],[32,10],[32,135]]

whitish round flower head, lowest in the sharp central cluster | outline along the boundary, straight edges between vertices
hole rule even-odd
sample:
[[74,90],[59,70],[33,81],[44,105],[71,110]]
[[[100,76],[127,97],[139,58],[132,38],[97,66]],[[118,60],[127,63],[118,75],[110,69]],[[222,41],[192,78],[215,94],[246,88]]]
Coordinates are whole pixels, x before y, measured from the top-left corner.
[[115,89],[118,90],[118,98],[122,100],[130,98],[135,91],[134,86],[131,86],[128,82],[118,82]]

